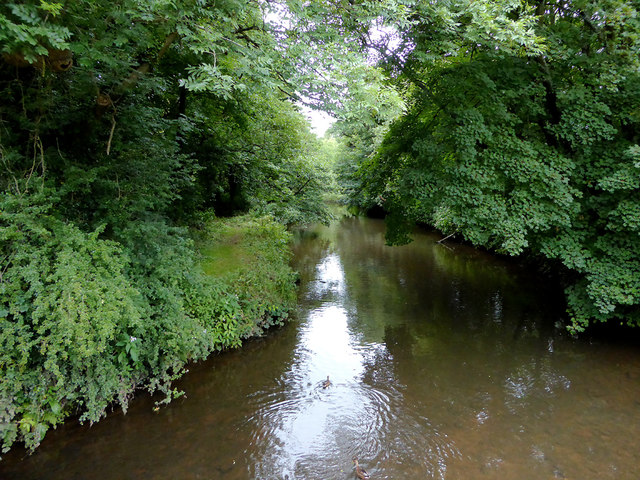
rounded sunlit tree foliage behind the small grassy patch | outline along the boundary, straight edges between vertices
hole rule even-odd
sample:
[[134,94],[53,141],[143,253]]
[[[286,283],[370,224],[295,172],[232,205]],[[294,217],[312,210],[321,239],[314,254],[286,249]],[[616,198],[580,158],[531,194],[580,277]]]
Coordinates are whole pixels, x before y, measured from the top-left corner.
[[251,209],[279,221],[326,222],[322,197],[331,187],[321,144],[293,105],[264,89],[233,104],[201,105],[186,149],[202,171],[191,194],[220,214]]

